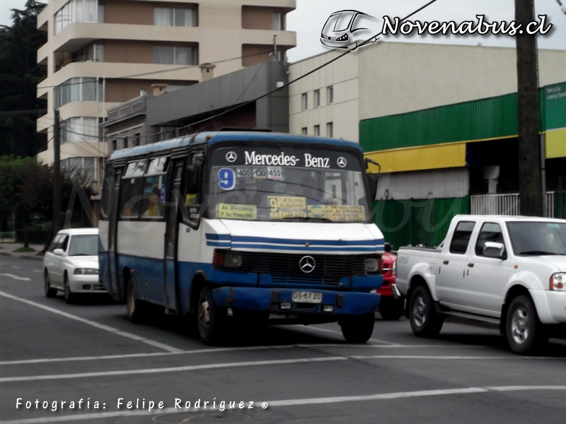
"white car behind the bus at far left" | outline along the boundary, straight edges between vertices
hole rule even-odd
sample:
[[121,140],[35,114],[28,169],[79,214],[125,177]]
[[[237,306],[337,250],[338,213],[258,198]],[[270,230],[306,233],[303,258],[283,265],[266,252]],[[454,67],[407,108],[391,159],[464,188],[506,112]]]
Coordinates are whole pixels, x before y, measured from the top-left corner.
[[43,258],[45,296],[63,290],[71,303],[81,293],[108,293],[98,281],[98,228],[57,232]]

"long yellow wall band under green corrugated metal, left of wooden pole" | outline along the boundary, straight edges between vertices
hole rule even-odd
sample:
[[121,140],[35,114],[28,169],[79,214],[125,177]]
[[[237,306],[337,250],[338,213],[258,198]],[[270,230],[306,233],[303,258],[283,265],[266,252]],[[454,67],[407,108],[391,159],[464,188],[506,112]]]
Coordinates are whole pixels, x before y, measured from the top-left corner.
[[[366,153],[379,162],[381,172],[434,170],[466,166],[466,143],[437,144]],[[370,168],[375,171],[373,168]]]

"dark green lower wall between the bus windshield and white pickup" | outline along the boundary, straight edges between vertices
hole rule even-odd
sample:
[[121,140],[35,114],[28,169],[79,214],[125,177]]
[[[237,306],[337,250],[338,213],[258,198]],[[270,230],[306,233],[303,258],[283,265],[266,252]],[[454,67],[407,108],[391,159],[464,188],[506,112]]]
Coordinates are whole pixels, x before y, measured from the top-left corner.
[[374,220],[386,242],[395,249],[406,245],[437,246],[452,218],[470,213],[470,196],[447,199],[381,200],[374,203]]

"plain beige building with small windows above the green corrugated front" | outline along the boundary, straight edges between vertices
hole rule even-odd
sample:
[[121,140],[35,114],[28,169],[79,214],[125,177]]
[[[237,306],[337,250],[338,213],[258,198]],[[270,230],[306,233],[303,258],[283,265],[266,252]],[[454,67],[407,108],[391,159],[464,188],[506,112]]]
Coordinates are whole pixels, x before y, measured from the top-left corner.
[[[334,59],[330,50],[289,66],[289,81]],[[539,84],[566,81],[566,52],[538,52]],[[329,88],[333,98],[328,99]],[[379,42],[289,86],[291,134],[359,143],[359,122],[514,93],[514,48]],[[317,93],[318,92],[318,93]],[[320,99],[318,100],[318,96]],[[328,134],[332,123],[333,134]]]

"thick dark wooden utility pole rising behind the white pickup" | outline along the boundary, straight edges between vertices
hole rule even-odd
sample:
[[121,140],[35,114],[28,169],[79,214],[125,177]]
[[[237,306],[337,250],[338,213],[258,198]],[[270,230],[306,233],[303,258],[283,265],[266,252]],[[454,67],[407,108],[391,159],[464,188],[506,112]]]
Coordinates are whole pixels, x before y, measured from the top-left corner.
[[521,24],[516,35],[517,126],[519,130],[519,201],[521,215],[543,216],[545,193],[541,177],[544,160],[539,131],[538,61],[536,35],[526,33],[534,21],[534,0],[515,0],[515,20]]

